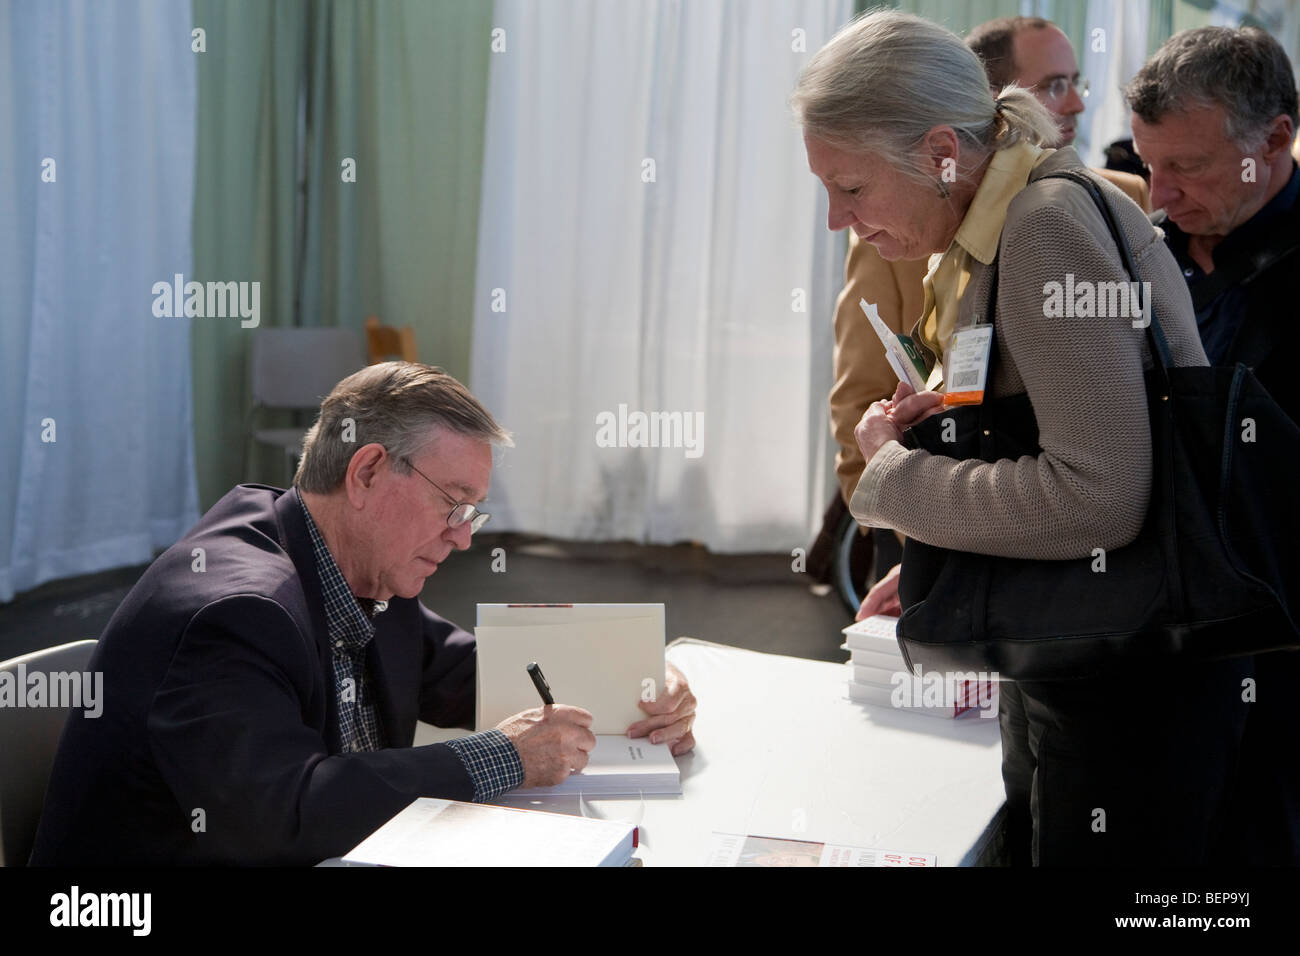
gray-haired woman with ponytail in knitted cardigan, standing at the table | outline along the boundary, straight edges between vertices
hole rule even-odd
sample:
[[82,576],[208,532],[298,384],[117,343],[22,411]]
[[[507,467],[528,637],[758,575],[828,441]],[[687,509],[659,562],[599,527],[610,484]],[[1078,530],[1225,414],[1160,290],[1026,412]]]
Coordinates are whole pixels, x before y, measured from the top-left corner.
[[[829,196],[828,226],[852,228],[885,259],[932,255],[913,330],[931,389],[963,330],[992,323],[984,401],[1026,395],[1037,424],[1036,454],[987,462],[907,447],[906,432],[937,412],[944,395],[900,384],[857,428],[867,464],[854,516],[924,545],[1045,562],[1131,542],[1152,485],[1144,386],[1152,358],[1127,313],[1076,317],[1049,302],[1052,289],[1128,281],[1088,191],[1048,178],[1089,176],[1074,150],[1044,148],[1056,138],[1050,114],[1027,90],[994,96],[961,39],[897,12],[841,30],[803,70],[792,105],[809,166]],[[1121,191],[1092,178],[1149,282],[1174,363],[1206,364],[1161,234]],[[905,609],[916,600],[907,578],[905,555]],[[1023,596],[1026,615],[1036,600]],[[1213,861],[1247,667],[1174,661],[1004,682],[1013,862]]]

